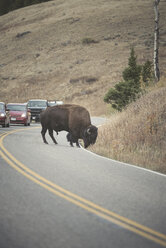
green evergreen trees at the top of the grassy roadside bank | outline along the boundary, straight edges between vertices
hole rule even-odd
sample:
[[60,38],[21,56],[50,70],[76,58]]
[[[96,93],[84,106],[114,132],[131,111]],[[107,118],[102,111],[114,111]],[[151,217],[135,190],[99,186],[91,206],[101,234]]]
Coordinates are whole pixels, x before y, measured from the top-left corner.
[[152,63],[147,60],[143,65],[138,65],[134,48],[132,48],[128,67],[124,69],[122,76],[124,81],[115,84],[104,97],[104,101],[118,111],[122,111],[130,102],[140,97],[144,88],[152,81],[154,78]]

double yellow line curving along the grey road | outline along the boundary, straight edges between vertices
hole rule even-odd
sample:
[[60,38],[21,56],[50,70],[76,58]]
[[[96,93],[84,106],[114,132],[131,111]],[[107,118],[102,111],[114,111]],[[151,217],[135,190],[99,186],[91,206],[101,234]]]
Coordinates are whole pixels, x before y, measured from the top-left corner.
[[[29,128],[28,128],[29,129]],[[94,204],[91,201],[88,201],[72,192],[65,190],[64,188],[58,186],[57,184],[47,180],[46,178],[40,176],[34,171],[30,170],[23,163],[18,161],[3,145],[3,140],[9,134],[22,131],[25,129],[14,130],[8,133],[3,133],[0,135],[0,156],[15,170],[21,173],[23,176],[27,177],[34,183],[45,188],[49,192],[85,209],[88,212],[91,212],[97,216],[104,218],[107,221],[110,221],[118,226],[121,226],[131,232],[136,233],[146,239],[154,241],[164,247],[166,247],[166,235],[160,232],[157,232],[151,228],[148,228],[144,225],[141,225],[137,222],[134,222],[130,219],[127,219],[123,216],[120,216],[108,209],[105,209],[99,205]]]

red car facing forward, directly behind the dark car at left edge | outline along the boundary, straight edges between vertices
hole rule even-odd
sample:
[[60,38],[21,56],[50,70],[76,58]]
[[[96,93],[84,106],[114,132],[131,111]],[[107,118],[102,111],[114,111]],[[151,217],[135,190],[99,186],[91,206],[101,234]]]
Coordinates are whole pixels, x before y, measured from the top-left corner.
[[11,124],[24,124],[24,126],[30,126],[31,113],[27,103],[8,103],[7,109],[10,111]]

